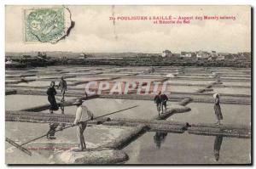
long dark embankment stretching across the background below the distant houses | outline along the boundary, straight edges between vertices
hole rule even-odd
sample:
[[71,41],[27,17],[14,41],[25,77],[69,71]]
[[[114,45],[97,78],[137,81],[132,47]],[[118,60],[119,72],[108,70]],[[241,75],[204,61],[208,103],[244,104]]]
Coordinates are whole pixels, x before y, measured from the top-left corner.
[[249,60],[206,60],[161,57],[126,57],[123,59],[15,59],[6,69],[42,67],[49,65],[115,65],[115,66],[202,66],[202,67],[251,67]]

